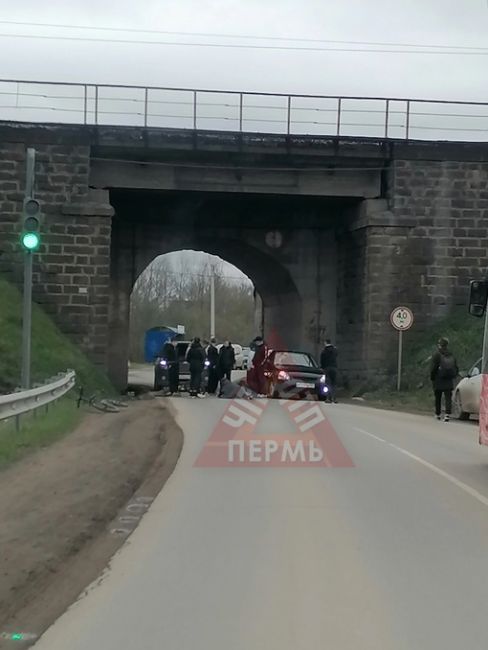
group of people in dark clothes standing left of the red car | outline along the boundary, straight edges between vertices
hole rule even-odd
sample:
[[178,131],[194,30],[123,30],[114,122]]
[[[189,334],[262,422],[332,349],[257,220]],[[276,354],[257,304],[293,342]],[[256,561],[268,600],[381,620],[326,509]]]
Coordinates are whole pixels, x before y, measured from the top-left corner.
[[[176,340],[168,341],[161,351],[161,358],[168,365],[170,395],[178,393],[180,380],[177,345]],[[209,343],[204,341],[202,344],[197,336],[188,346],[185,360],[190,367],[190,397],[202,397],[205,393],[214,395],[224,378],[230,381],[235,365],[235,352],[230,341],[225,341],[219,350],[215,338],[212,338]],[[203,386],[205,366],[208,368],[208,381],[206,386]]]

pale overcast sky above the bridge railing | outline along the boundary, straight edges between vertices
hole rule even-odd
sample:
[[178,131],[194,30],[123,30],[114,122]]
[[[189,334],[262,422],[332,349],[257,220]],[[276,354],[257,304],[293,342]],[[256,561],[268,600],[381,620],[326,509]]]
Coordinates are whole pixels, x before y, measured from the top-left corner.
[[[0,9],[9,21],[488,48],[487,0],[0,0]],[[310,45],[6,24],[0,33]],[[487,52],[303,52],[5,36],[0,47],[4,78],[488,100]]]

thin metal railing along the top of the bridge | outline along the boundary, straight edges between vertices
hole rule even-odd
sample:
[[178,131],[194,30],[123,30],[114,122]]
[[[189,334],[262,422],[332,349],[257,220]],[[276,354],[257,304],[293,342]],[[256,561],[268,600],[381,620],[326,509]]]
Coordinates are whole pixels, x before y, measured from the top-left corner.
[[0,80],[0,120],[484,141],[488,103]]

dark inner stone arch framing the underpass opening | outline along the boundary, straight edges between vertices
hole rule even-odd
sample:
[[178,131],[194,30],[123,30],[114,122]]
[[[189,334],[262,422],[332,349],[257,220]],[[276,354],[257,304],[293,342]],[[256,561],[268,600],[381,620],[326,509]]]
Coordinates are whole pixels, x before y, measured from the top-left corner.
[[[132,224],[133,226],[133,224]],[[127,234],[127,233],[126,233]],[[239,233],[182,229],[166,231],[157,224],[132,227],[130,237],[113,232],[111,338],[108,367],[112,381],[127,382],[130,295],[135,281],[159,255],[196,250],[233,264],[253,282],[262,301],[264,335],[278,337],[284,345],[298,347],[302,332],[302,299],[286,266]]]

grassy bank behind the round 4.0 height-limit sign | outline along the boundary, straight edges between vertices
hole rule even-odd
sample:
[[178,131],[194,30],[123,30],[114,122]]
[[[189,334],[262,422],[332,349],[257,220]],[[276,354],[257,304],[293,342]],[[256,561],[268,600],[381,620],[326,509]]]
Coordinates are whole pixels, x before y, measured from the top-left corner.
[[425,332],[411,330],[404,335],[402,390],[396,391],[396,376],[368,391],[357,391],[368,403],[384,408],[432,412],[430,359],[440,336],[449,339],[450,348],[461,371],[467,371],[479,359],[483,345],[484,319],[469,316],[465,309],[453,311]]

